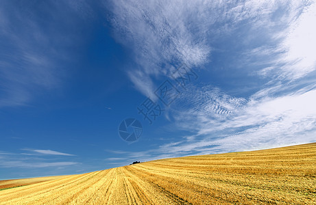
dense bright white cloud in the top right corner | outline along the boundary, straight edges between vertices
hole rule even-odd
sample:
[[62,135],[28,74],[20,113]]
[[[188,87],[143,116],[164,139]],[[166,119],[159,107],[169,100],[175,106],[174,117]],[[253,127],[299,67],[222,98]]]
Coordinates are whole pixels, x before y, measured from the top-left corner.
[[250,52],[252,57],[263,57],[265,64],[265,57],[269,57],[268,62],[271,65],[258,72],[265,77],[274,75],[279,80],[281,77],[295,80],[316,70],[316,59],[313,55],[316,52],[316,29],[312,26],[316,20],[316,4],[310,1],[304,7],[291,5],[289,10],[292,15],[284,20],[289,26],[270,33],[271,38],[276,39],[278,43],[274,46],[263,45]]

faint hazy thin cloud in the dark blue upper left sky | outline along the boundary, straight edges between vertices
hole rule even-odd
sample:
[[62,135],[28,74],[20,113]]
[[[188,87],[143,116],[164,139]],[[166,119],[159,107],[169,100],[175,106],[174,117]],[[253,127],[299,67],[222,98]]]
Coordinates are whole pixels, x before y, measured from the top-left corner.
[[67,27],[80,21],[84,2],[70,2],[0,3],[0,107],[27,105],[43,90],[61,87],[72,55],[67,49],[80,42]]

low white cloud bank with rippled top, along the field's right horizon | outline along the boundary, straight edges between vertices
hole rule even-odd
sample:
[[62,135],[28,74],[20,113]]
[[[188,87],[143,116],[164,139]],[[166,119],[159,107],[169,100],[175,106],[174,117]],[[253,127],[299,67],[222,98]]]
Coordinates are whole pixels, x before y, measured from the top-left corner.
[[[192,87],[191,87],[192,88]],[[207,90],[207,88],[209,90]],[[197,89],[197,88],[196,88]],[[218,88],[206,86],[204,92],[212,97],[201,98],[200,90],[192,90],[191,104],[172,110],[174,128],[192,133],[178,141],[164,143],[158,148],[142,152],[113,151],[127,160],[149,161],[192,154],[258,150],[290,146],[316,141],[316,89],[304,87],[280,96],[269,95],[245,100],[232,98]],[[188,89],[189,90],[189,89]],[[203,89],[202,89],[203,90]],[[208,99],[208,101],[206,100]],[[205,102],[195,104],[195,102]],[[232,112],[218,112],[219,107],[230,107]],[[230,105],[231,103],[231,105]],[[210,104],[210,106],[208,105]],[[162,154],[163,153],[163,154]]]

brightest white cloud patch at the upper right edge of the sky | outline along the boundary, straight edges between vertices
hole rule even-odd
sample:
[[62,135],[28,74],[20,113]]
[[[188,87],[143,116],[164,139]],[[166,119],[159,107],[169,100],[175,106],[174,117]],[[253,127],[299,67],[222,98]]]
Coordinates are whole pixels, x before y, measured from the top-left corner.
[[274,77],[276,81],[293,81],[315,71],[315,20],[315,1],[290,1],[287,8],[276,10],[274,15],[266,18],[263,25],[266,29],[263,31],[267,39],[265,44],[245,52],[252,60],[250,64],[268,65],[257,73],[267,78]]

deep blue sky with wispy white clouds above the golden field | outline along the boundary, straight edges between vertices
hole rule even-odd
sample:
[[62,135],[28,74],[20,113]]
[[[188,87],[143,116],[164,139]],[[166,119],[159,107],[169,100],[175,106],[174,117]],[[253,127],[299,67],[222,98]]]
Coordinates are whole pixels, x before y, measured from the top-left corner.
[[315,22],[315,1],[1,1],[0,179],[314,142]]

